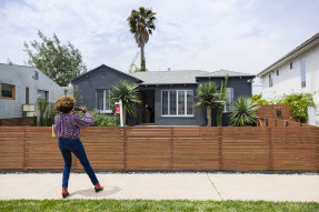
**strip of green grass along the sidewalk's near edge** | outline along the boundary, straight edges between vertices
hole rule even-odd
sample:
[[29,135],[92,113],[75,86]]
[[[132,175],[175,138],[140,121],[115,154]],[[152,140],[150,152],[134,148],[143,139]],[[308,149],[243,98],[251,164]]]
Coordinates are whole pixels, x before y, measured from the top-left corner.
[[276,211],[317,212],[316,202],[266,201],[190,201],[190,200],[8,200],[0,201],[0,211]]

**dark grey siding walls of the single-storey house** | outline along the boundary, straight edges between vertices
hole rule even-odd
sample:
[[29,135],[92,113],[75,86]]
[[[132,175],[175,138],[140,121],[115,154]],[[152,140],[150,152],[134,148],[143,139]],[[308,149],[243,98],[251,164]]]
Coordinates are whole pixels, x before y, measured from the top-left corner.
[[[103,74],[101,72],[104,72]],[[88,77],[87,77],[88,75]],[[92,110],[97,108],[97,90],[101,89],[111,89],[119,81],[128,80],[134,83],[139,83],[138,79],[131,78],[126,73],[114,71],[108,67],[97,68],[94,71],[87,73],[72,81],[73,84],[77,84],[79,92],[83,99],[84,105]],[[242,78],[229,78],[228,87],[233,88],[235,99],[240,95],[251,97],[251,83],[247,83],[248,79],[252,77],[242,77]],[[215,81],[220,85],[223,78],[213,78],[211,81]],[[200,79],[199,82],[206,82],[208,79]],[[162,115],[162,102],[161,102],[161,91],[162,90],[192,90],[193,92],[193,104],[196,103],[196,90],[198,84],[153,84],[144,85],[140,84],[140,91],[153,91],[154,99],[154,123],[156,125],[207,125],[206,109],[196,108],[193,105],[193,115],[192,117],[166,117]],[[129,125],[138,125],[141,123],[141,111],[142,105],[138,105],[137,117],[127,118],[127,123]],[[223,125],[228,125],[228,113],[223,115]],[[212,125],[216,125],[216,112],[212,111]]]

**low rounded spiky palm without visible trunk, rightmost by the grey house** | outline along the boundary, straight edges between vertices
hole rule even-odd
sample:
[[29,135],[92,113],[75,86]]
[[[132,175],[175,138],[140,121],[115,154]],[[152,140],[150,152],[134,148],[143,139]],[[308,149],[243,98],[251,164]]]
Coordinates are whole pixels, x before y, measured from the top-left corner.
[[230,105],[230,123],[235,127],[253,125],[257,119],[257,109],[251,98],[239,97]]

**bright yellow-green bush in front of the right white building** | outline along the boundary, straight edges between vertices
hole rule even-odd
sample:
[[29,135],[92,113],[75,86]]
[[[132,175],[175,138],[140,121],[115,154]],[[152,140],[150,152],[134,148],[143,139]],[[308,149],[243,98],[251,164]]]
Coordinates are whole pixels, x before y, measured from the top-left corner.
[[311,93],[292,93],[285,95],[277,104],[289,104],[293,115],[302,123],[308,121],[307,107],[316,107]]

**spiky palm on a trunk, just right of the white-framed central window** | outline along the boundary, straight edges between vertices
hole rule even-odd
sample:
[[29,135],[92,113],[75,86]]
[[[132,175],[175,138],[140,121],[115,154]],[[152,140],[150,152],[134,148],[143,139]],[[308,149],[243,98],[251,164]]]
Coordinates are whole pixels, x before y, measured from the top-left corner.
[[205,82],[198,84],[197,88],[197,107],[206,108],[207,127],[211,127],[211,108],[217,108],[220,104],[220,93],[218,85],[215,82]]

